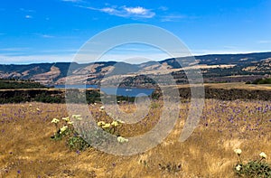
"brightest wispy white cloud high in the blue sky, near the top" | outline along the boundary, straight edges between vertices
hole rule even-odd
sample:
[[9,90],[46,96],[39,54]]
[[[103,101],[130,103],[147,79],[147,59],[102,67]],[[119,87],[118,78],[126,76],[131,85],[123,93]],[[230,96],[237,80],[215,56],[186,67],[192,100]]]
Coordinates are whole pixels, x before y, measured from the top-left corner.
[[95,8],[90,6],[82,6],[81,8],[87,8],[93,11],[99,11],[106,14],[121,16],[121,17],[131,17],[131,18],[153,18],[155,13],[151,9],[146,9],[142,6],[127,7],[127,6],[110,6],[103,8]]

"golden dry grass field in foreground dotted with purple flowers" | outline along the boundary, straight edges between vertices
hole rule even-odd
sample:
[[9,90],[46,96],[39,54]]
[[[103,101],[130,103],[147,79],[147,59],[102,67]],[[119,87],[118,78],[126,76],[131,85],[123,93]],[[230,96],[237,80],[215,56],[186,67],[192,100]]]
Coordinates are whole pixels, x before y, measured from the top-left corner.
[[[50,137],[54,117],[67,117],[64,104],[24,103],[0,105],[0,177],[236,177],[241,148],[244,161],[265,152],[271,159],[271,102],[207,99],[201,122],[192,136],[178,142],[189,102],[164,142],[144,154],[108,155],[95,148],[70,150],[65,140]],[[122,136],[143,134],[160,117],[159,103],[138,124],[120,128]],[[107,120],[100,105],[89,105],[97,121]],[[133,104],[121,104],[131,112]],[[79,113],[75,113],[79,114]]]

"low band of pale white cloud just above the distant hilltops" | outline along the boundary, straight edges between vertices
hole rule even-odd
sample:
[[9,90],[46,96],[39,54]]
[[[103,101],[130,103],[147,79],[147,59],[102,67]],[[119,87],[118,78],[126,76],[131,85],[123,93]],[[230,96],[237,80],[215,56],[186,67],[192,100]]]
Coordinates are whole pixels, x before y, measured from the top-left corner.
[[[70,50],[75,51],[75,50]],[[52,51],[54,52],[54,51]],[[210,51],[210,50],[194,50],[192,55],[205,55],[205,54],[229,54],[229,53],[252,53],[252,52],[266,52],[266,51]],[[49,52],[50,53],[50,52]],[[178,57],[187,56],[185,53]],[[77,57],[79,60],[74,59]],[[74,53],[65,52],[65,54],[41,54],[41,55],[12,55],[12,54],[0,54],[0,64],[27,64],[27,63],[42,63],[42,62],[70,62],[78,61],[79,63],[89,63],[97,61],[126,61],[128,63],[141,63],[145,61],[162,61],[165,59],[172,58],[169,54],[164,52],[145,53],[144,55],[139,54],[117,54],[110,53],[102,56],[100,59],[95,60],[97,55],[95,54],[79,54],[75,56]]]

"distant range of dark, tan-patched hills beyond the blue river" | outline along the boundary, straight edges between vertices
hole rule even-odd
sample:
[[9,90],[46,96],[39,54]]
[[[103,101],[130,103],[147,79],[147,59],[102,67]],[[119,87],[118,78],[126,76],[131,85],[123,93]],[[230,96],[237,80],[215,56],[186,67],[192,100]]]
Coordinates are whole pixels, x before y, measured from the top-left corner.
[[[185,83],[185,70],[201,69],[206,82],[223,82],[253,80],[271,75],[271,52],[247,54],[210,54],[195,56],[196,62],[186,63],[184,69],[178,61],[187,58],[167,59],[164,61],[147,61],[141,64],[104,61],[79,64],[75,62],[34,63],[27,65],[0,65],[1,79],[35,80],[45,85],[87,83],[99,84],[104,76],[110,79],[121,76],[126,83],[146,78],[135,76],[136,73],[148,75],[173,74],[179,83]],[[70,70],[69,70],[70,69]],[[117,69],[117,70],[116,70]],[[229,80],[231,79],[231,80]],[[113,81],[112,81],[113,82]]]

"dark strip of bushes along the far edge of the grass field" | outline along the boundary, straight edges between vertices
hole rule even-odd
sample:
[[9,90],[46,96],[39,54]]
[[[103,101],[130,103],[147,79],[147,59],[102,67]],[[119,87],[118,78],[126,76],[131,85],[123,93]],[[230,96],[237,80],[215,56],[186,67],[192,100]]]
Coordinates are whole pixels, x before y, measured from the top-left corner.
[[[179,89],[180,98],[191,98],[191,89]],[[66,98],[67,95],[68,97]],[[152,99],[163,99],[161,90],[155,90]],[[221,100],[235,99],[258,99],[271,100],[270,90],[260,89],[212,89],[205,88],[204,98],[217,98]],[[79,89],[5,89],[0,90],[0,104],[4,103],[21,103],[21,102],[44,102],[44,103],[95,103],[102,99],[110,102],[116,96],[101,94],[99,90],[87,90],[86,92]],[[173,98],[177,99],[177,98]],[[117,96],[117,101],[134,102],[134,97]]]

